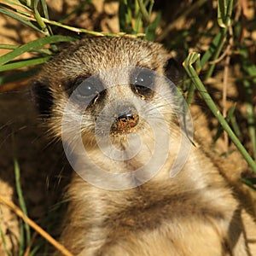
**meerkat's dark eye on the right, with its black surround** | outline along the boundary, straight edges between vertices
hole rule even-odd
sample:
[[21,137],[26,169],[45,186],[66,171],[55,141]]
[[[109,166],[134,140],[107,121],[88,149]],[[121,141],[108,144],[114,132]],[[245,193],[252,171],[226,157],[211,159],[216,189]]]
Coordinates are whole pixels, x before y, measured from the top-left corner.
[[131,89],[143,99],[152,96],[154,91],[154,75],[148,70],[137,73]]

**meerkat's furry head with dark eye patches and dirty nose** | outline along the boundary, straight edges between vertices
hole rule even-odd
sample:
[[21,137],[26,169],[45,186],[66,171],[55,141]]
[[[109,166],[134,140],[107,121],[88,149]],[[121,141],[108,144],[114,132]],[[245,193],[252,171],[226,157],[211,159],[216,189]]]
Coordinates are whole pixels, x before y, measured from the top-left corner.
[[85,38],[49,61],[32,91],[49,129],[62,141],[76,143],[82,137],[87,148],[111,143],[122,150],[128,137],[136,141],[139,135],[150,152],[154,135],[175,124],[177,91],[165,77],[172,76],[171,66],[160,44]]

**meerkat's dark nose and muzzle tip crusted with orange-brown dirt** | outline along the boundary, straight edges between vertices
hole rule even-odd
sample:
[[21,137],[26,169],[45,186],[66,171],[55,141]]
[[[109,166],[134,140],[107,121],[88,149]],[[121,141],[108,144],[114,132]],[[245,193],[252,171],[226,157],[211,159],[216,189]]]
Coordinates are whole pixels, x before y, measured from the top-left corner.
[[139,121],[137,109],[132,105],[119,106],[114,113],[111,131],[115,134],[130,133]]

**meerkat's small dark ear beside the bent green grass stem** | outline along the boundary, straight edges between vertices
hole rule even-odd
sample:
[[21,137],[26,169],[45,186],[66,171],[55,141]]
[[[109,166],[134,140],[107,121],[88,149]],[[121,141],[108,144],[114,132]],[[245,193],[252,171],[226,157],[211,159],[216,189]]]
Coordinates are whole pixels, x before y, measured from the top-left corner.
[[170,79],[174,84],[178,84],[183,78],[183,66],[173,57],[166,61],[165,65],[166,77]]

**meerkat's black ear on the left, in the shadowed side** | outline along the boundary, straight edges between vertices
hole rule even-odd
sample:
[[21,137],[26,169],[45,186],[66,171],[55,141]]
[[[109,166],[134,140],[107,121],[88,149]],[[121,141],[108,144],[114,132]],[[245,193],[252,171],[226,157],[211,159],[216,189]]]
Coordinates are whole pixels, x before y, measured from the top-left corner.
[[32,80],[30,88],[32,99],[36,103],[39,112],[44,116],[50,115],[53,105],[53,96],[49,87],[40,81]]

